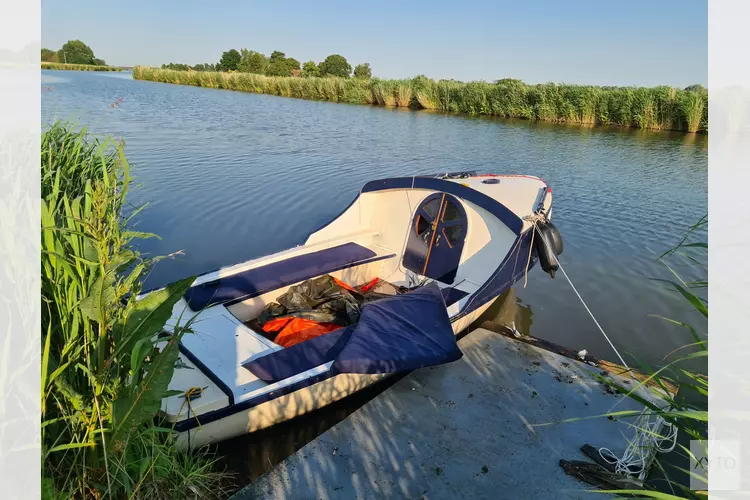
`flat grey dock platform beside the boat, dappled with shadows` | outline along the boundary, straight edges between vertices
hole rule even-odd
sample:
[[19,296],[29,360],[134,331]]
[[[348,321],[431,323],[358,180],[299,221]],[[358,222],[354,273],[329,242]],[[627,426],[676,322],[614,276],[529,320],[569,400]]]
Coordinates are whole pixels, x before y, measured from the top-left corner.
[[585,443],[619,456],[632,428],[560,422],[642,407],[607,391],[601,368],[499,333],[459,346],[462,359],[409,374],[233,499],[592,498],[560,459],[588,460]]

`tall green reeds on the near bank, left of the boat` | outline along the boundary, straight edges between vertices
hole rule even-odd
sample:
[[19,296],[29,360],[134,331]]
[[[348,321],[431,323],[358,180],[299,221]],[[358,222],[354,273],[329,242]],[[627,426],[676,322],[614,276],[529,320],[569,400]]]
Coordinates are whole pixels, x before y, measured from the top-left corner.
[[[136,301],[156,262],[135,250],[121,144],[57,123],[42,134],[42,481],[45,498],[195,498],[213,462],[155,424],[189,321],[157,338],[192,278]],[[132,217],[132,215],[131,215]]]

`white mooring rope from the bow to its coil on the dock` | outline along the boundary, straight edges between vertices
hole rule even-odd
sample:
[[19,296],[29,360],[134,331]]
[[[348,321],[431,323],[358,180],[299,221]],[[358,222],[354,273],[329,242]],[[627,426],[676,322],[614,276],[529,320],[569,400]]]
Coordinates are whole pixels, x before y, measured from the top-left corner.
[[[547,218],[541,213],[534,213],[524,217],[524,220],[531,223],[531,230],[533,231],[533,233],[531,234],[531,246],[529,247],[529,258],[526,261],[526,277],[524,279],[523,285],[524,288],[526,288],[529,273],[529,264],[531,263],[531,253],[534,251],[534,236],[537,231],[537,226],[542,222],[546,222]],[[544,242],[545,246],[547,246],[547,250],[555,254],[554,250],[550,248],[547,240],[545,238],[540,239]],[[562,271],[563,276],[565,276],[565,279],[568,281],[568,284],[578,296],[578,300],[581,301],[581,304],[583,304],[586,312],[588,312],[589,316],[591,316],[591,319],[601,332],[602,336],[607,340],[610,347],[612,347],[612,350],[620,359],[622,366],[625,367],[630,376],[633,377],[636,382],[638,382],[635,374],[633,374],[633,371],[630,369],[628,364],[625,362],[625,359],[623,359],[622,355],[620,354],[620,351],[617,350],[615,345],[609,339],[609,336],[604,331],[604,328],[602,328],[602,325],[599,324],[599,321],[597,321],[594,313],[591,312],[591,309],[589,309],[586,301],[583,300],[583,297],[581,297],[581,294],[573,284],[573,281],[571,281],[568,273],[565,272],[565,269],[563,268],[559,259],[558,266],[560,271]],[[639,415],[638,419],[632,424],[632,426],[635,429],[635,433],[633,439],[628,441],[628,447],[623,452],[622,457],[617,458],[617,455],[612,453],[612,451],[608,448],[599,448],[599,455],[607,463],[613,464],[615,466],[615,473],[621,475],[638,475],[638,478],[643,480],[646,478],[648,468],[651,465],[651,461],[653,460],[656,452],[669,453],[670,451],[675,449],[675,446],[677,445],[677,427],[674,424],[668,423],[660,415],[656,415],[648,409],[643,410],[643,412]],[[663,428],[665,428],[666,430],[664,435],[661,434]],[[665,443],[669,444],[667,446],[664,446]],[[652,454],[651,452],[654,453]]]

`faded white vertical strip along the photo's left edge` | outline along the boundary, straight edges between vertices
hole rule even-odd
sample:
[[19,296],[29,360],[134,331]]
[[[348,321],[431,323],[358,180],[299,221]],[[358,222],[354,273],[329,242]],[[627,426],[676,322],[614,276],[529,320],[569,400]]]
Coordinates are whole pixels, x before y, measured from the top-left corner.
[[40,498],[40,2],[0,6],[0,495]]

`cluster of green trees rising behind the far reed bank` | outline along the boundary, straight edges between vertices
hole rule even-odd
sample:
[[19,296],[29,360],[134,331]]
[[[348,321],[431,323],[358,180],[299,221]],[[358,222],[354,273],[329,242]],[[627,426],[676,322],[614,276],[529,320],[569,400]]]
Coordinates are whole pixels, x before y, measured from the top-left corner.
[[369,63],[357,64],[352,70],[351,64],[340,54],[331,54],[323,61],[300,62],[287,57],[285,53],[274,50],[270,56],[248,49],[230,49],[221,54],[216,64],[205,63],[190,66],[181,63],[162,64],[162,69],[179,71],[225,71],[239,73],[255,73],[266,76],[301,76],[325,77],[337,76],[341,78],[372,78],[372,68]]

